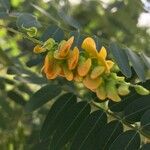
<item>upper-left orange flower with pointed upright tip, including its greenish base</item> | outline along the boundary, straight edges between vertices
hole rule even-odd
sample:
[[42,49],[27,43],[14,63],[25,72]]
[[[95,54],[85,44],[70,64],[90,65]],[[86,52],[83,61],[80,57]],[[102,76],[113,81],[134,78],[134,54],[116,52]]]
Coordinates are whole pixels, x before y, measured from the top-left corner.
[[73,36],[68,41],[63,41],[60,44],[60,47],[58,48],[58,50],[55,51],[54,57],[56,59],[66,59],[66,57],[69,54],[69,50],[73,44],[73,41],[74,41]]

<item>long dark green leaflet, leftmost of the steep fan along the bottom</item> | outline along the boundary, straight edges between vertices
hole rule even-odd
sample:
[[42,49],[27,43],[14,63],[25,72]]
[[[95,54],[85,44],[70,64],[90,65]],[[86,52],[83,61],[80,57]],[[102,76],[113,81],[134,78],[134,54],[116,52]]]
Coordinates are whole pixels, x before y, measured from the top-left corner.
[[76,96],[72,93],[64,94],[57,99],[50,108],[40,131],[40,139],[42,141],[48,139],[56,128],[60,126],[62,116],[76,103],[76,99]]

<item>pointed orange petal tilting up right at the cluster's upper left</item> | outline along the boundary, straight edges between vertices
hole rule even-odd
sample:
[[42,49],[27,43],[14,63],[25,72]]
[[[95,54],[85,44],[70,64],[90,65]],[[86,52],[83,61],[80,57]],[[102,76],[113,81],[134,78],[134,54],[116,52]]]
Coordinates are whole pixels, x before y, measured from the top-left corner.
[[58,53],[59,53],[59,57],[60,58],[64,58],[68,55],[69,53],[69,50],[73,44],[73,41],[74,41],[74,37],[72,36],[68,41],[64,42],[59,50],[58,50]]

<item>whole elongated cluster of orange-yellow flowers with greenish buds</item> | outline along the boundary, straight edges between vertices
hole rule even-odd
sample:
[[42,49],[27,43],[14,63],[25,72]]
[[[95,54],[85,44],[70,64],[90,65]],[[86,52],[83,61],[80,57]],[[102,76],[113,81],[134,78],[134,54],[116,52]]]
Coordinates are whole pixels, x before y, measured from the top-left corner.
[[[129,94],[130,84],[112,71],[114,62],[106,59],[105,47],[98,51],[95,41],[87,37],[81,45],[83,51],[79,51],[78,47],[72,48],[73,42],[74,37],[60,43],[50,38],[44,45],[34,48],[35,53],[48,50],[42,68],[48,79],[61,76],[68,81],[82,82],[100,100],[108,98],[118,102],[121,100],[120,96]],[[145,94],[149,94],[149,91],[145,91]]]

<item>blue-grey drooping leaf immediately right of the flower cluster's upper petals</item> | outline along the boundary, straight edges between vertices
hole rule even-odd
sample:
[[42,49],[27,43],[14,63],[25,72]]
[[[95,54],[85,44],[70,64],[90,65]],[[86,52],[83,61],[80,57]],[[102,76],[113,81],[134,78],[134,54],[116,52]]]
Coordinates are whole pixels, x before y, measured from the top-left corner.
[[128,60],[128,57],[127,57],[124,49],[119,48],[115,43],[111,43],[109,50],[112,53],[121,72],[126,77],[128,77],[128,78],[131,77],[131,75],[132,75],[131,67],[129,65],[129,60]]

